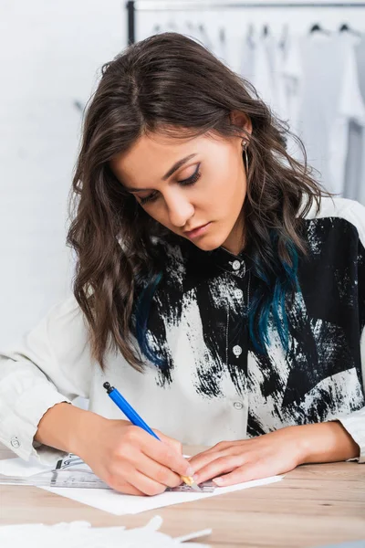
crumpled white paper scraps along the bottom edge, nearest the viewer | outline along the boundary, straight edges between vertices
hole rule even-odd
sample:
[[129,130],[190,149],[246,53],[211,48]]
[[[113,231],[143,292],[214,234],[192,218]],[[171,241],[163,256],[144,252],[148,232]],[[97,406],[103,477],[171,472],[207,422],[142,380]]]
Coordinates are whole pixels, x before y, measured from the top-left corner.
[[[4,525],[0,527],[0,546],[14,548],[172,548],[185,541],[195,540],[211,534],[211,529],[172,538],[159,532],[162,518],[155,516],[145,527],[91,527],[89,522],[42,523],[26,525]],[[189,543],[189,548],[209,548],[208,544]]]

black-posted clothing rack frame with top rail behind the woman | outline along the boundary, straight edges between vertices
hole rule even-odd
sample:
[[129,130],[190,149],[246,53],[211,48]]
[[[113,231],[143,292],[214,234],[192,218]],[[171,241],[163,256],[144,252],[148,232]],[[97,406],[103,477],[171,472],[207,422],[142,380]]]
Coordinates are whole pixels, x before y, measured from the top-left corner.
[[293,7],[365,7],[360,2],[175,2],[159,1],[150,2],[147,0],[129,0],[126,3],[128,14],[128,43],[134,44],[136,34],[136,13],[156,11],[203,11],[205,9],[230,9],[230,8],[293,8]]

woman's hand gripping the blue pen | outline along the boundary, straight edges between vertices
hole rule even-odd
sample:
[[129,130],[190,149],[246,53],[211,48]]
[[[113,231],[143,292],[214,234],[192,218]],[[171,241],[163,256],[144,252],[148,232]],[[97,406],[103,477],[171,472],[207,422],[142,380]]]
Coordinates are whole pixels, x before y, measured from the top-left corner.
[[73,452],[113,489],[131,495],[157,495],[180,485],[180,476],[193,476],[180,442],[156,431],[159,441],[129,421],[89,412],[87,422],[91,422],[88,430],[83,429],[87,438],[78,437]]

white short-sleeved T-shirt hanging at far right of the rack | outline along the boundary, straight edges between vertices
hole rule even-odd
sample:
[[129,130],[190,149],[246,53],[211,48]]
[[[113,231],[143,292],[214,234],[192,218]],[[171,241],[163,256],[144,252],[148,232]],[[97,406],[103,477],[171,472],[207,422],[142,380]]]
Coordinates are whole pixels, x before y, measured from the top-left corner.
[[[344,189],[349,120],[365,120],[354,57],[354,45],[339,35],[310,35],[298,41],[299,108],[297,132],[308,153],[308,163],[322,175],[329,191]],[[336,60],[336,62],[334,62]],[[286,68],[289,74],[289,67]]]

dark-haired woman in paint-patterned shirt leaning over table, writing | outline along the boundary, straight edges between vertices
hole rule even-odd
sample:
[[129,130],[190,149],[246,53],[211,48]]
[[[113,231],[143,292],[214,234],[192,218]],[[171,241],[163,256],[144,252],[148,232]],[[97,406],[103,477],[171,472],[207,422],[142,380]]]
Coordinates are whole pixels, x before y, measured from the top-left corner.
[[[132,494],[365,460],[364,208],[324,195],[286,135],[187,37],[103,68],[73,182],[74,296],[3,355],[5,445],[74,452]],[[213,447],[187,461],[181,442]]]

